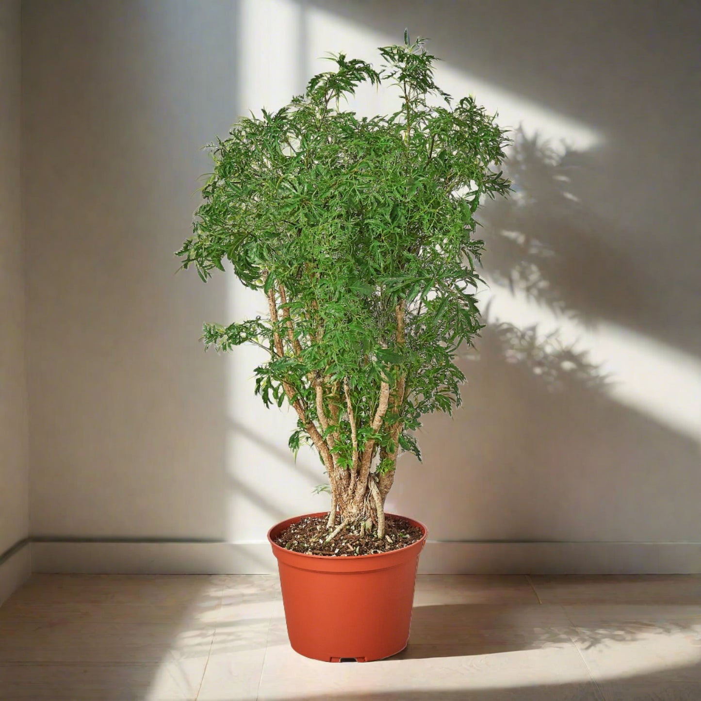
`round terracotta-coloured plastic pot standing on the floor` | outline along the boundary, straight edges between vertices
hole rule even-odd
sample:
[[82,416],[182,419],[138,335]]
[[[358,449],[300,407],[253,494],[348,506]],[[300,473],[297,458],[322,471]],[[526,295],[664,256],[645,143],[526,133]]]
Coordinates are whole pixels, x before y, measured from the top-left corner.
[[428,535],[426,526],[407,519],[423,530],[421,540],[372,555],[308,555],[273,542],[299,519],[325,515],[297,516],[268,531],[278,559],[292,648],[325,662],[369,662],[395,655],[409,641],[416,567]]

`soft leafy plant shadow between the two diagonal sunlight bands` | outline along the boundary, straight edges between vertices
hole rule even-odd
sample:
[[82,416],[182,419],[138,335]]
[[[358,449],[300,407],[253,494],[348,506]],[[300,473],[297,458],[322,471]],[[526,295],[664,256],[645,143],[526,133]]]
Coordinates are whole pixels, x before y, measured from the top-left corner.
[[602,317],[623,325],[636,320],[649,306],[650,285],[609,243],[622,237],[578,193],[594,177],[587,154],[519,128],[506,170],[512,198],[485,208],[491,280],[585,327]]

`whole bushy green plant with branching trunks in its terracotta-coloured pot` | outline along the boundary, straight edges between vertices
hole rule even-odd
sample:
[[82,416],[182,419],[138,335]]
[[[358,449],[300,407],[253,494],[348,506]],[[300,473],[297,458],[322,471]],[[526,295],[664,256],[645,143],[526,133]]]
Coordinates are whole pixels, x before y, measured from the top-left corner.
[[[266,316],[205,324],[203,340],[268,352],[255,391],[294,409],[290,448],[311,444],[324,465],[329,512],[268,533],[292,646],[322,660],[407,644],[426,528],[384,504],[400,452],[421,459],[421,416],[460,403],[456,353],[482,328],[475,212],[509,189],[494,170],[505,132],[472,97],[438,88],[423,41],[405,34],[379,52],[379,71],[334,56],[304,95],[212,144],[214,172],[177,252],[205,282],[229,261],[266,297]],[[343,109],[362,83],[395,90],[397,111]]]

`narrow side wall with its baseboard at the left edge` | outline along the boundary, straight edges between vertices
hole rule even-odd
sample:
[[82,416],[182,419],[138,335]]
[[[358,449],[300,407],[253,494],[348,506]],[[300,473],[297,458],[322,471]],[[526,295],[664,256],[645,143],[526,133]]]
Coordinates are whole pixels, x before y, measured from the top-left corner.
[[21,231],[20,2],[0,3],[0,602],[24,578],[29,548],[25,275]]

